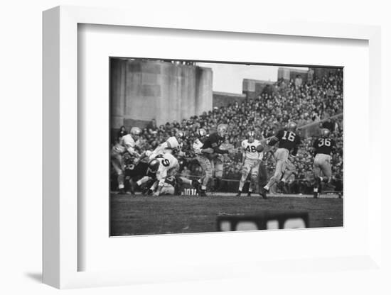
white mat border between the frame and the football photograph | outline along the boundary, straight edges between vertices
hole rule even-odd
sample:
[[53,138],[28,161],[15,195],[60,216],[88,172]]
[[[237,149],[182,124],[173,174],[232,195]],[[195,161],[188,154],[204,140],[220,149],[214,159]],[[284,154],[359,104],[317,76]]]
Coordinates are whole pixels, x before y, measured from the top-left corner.
[[[235,33],[203,33],[188,30],[156,30],[115,26],[79,27],[85,94],[86,146],[85,176],[79,181],[88,188],[85,194],[85,265],[86,270],[126,269],[127,265],[211,265],[225,263],[235,249],[246,247],[247,252],[233,261],[282,260],[306,257],[363,255],[368,252],[366,228],[366,184],[356,186],[361,170],[355,159],[360,151],[355,138],[368,134],[368,44],[359,40],[291,38],[275,35]],[[159,44],[159,46],[156,46]],[[324,230],[294,230],[267,233],[162,235],[147,237],[110,238],[108,236],[108,57],[161,57],[193,60],[223,60],[236,62],[278,62],[294,65],[344,66],[345,83],[345,187],[346,208],[344,228]],[[357,84],[360,87],[356,87]],[[97,87],[99,86],[99,87]],[[349,111],[354,110],[354,111]],[[361,130],[355,128],[360,122]],[[91,129],[88,128],[91,127]],[[92,128],[93,126],[93,128]],[[368,148],[368,143],[362,143]],[[107,161],[97,162],[96,159]],[[92,165],[93,164],[93,165]],[[362,167],[365,169],[365,166]],[[363,180],[363,179],[362,179]],[[97,186],[96,184],[100,184]],[[88,210],[94,208],[94,211]],[[102,232],[102,228],[105,230]],[[294,241],[294,243],[291,243]],[[336,243],[338,241],[338,243]],[[196,243],[196,247],[194,247]],[[159,248],[156,248],[159,244]],[[99,247],[97,247],[99,245]],[[173,247],[175,245],[175,247]],[[262,245],[262,252],[259,252]],[[290,245],[289,248],[286,245]],[[111,255],[102,256],[102,252]],[[132,253],[146,252],[148,258]],[[191,252],[192,255],[188,255]],[[173,257],[181,260],[173,262]],[[232,261],[232,256],[231,256]]]

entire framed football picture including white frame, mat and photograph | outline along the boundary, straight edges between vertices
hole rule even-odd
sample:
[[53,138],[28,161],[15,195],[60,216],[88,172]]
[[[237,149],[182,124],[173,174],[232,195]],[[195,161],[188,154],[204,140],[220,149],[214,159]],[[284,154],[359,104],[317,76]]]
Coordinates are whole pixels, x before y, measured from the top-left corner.
[[43,282],[378,268],[380,29],[128,12],[43,13]]

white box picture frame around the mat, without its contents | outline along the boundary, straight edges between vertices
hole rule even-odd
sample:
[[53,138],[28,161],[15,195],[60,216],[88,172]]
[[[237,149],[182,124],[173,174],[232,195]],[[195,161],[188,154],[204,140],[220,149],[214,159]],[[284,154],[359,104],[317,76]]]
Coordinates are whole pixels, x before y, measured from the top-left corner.
[[[140,282],[176,282],[192,279],[224,279],[241,277],[242,269],[252,269],[253,274],[278,271],[279,268],[299,270],[328,269],[381,269],[381,198],[380,187],[373,185],[379,177],[366,175],[368,185],[374,189],[368,206],[368,247],[362,255],[341,257],[314,257],[290,262],[230,262],[210,266],[205,262],[186,269],[166,271],[165,265],[155,269],[107,270],[102,272],[78,271],[77,218],[77,25],[80,23],[135,26],[149,28],[175,28],[203,31],[253,33],[267,35],[306,36],[311,38],[343,38],[368,41],[369,46],[369,96],[370,108],[370,171],[380,171],[381,155],[375,152],[380,143],[380,28],[377,26],[333,23],[305,23],[249,20],[231,23],[222,18],[219,22],[203,21],[189,15],[176,23],[168,23],[168,16],[156,13],[154,18],[144,18],[142,13],[123,9],[97,9],[76,6],[58,6],[43,13],[43,282],[57,288],[87,286],[114,286]],[[368,192],[367,192],[368,194]],[[309,266],[311,265],[311,266]],[[343,266],[342,266],[343,265]],[[304,270],[305,271],[305,270]],[[256,277],[256,275],[255,275]]]

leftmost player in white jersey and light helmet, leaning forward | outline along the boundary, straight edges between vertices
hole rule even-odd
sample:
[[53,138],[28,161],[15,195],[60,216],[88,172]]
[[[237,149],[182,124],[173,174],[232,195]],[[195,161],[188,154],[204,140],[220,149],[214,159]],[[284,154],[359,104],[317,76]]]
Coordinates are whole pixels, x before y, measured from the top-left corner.
[[139,157],[139,153],[134,150],[134,147],[139,143],[141,129],[132,127],[130,133],[122,136],[119,141],[112,147],[111,162],[117,173],[118,189],[124,191],[124,162],[122,156],[125,152],[129,152],[133,157]]

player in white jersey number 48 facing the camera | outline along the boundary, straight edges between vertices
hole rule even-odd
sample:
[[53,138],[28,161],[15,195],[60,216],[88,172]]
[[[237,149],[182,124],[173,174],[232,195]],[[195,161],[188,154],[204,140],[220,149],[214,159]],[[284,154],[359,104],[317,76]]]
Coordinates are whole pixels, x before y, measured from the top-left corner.
[[251,182],[247,196],[251,196],[252,189],[256,187],[258,182],[259,164],[263,158],[263,152],[258,152],[257,148],[261,145],[259,140],[255,139],[254,131],[247,133],[247,139],[242,141],[242,177],[240,178],[239,191],[236,196],[242,194],[243,186],[245,185],[248,174],[251,173]]

